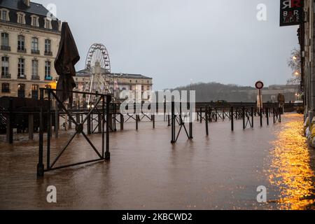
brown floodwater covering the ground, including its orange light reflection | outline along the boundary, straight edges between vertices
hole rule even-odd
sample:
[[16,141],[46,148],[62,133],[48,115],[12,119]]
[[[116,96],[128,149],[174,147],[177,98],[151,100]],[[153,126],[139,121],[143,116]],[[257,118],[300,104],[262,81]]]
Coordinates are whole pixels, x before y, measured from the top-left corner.
[[[314,209],[314,151],[302,137],[302,116],[242,130],[241,121],[194,123],[193,141],[184,132],[170,144],[171,130],[158,122],[127,123],[111,133],[111,161],[48,172],[36,178],[38,142],[27,135],[14,146],[0,140],[0,209]],[[71,131],[52,141],[57,155]],[[18,140],[15,139],[15,140]],[[101,136],[90,137],[100,148]],[[76,137],[58,165],[97,158]],[[57,203],[46,188],[57,188]],[[258,203],[258,186],[267,203]]]

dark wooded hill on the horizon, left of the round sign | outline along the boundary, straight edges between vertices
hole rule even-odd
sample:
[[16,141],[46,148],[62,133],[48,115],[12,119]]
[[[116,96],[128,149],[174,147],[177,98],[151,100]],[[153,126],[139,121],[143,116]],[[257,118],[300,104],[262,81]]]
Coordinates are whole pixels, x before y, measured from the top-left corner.
[[197,102],[255,102],[257,93],[254,87],[224,85],[221,83],[195,83],[177,87],[174,90],[196,90]]

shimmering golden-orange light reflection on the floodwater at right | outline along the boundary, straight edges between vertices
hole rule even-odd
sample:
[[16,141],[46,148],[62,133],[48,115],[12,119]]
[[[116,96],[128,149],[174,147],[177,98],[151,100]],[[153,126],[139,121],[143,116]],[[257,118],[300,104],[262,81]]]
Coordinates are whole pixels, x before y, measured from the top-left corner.
[[314,172],[310,166],[307,140],[303,137],[302,116],[290,114],[293,118],[283,124],[272,142],[272,164],[268,171],[269,182],[280,189],[280,209],[307,209],[314,204]]

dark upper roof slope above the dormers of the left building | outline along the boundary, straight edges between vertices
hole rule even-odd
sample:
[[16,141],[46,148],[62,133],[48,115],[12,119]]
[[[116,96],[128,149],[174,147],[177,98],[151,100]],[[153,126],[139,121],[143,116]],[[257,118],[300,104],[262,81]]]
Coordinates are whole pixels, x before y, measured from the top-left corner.
[[29,7],[22,0],[0,0],[0,7],[46,16],[49,11],[40,3],[31,2]]

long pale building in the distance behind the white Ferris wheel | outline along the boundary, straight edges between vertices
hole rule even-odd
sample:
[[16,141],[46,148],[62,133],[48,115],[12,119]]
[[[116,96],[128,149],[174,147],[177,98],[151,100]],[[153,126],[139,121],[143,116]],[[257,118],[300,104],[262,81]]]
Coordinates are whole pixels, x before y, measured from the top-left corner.
[[[76,81],[76,90],[84,92],[85,85],[87,85],[90,80],[90,73],[88,73],[86,69],[77,71],[74,80]],[[126,99],[127,95],[125,93],[128,91],[135,97],[137,95],[136,92],[141,92],[141,99],[140,94],[138,94],[139,98],[137,98],[137,100],[148,101],[150,99],[148,92],[153,91],[153,78],[139,74],[110,73],[106,75],[106,83],[109,85],[109,92],[111,92],[118,101]],[[78,101],[78,99],[76,100]]]

